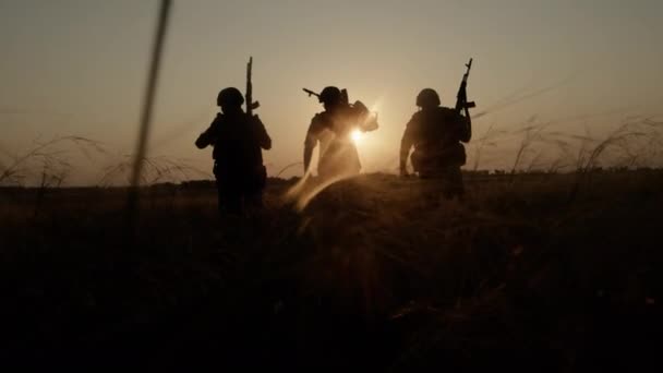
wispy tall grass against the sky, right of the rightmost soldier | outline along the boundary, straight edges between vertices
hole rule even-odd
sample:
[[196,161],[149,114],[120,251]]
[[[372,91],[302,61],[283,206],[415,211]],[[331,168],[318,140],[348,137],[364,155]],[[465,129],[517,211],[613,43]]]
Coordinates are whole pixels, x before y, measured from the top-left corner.
[[[586,175],[599,167],[660,167],[662,123],[654,118],[626,118],[603,135],[593,135],[587,125],[583,134],[559,131],[555,125],[559,121],[539,122],[537,117],[514,130],[497,130],[491,124],[477,142],[470,143],[474,147],[472,170],[482,168],[485,159],[491,163],[508,157],[514,159],[508,168],[511,175],[533,171]],[[484,154],[489,151],[492,157]]]

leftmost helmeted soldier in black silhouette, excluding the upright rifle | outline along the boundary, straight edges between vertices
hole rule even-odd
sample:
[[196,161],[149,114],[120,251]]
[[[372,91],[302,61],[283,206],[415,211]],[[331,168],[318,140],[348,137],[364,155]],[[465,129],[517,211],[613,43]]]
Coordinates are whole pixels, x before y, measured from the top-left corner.
[[[244,207],[261,207],[267,172],[262,149],[272,148],[272,139],[255,115],[242,110],[239,89],[221,89],[217,105],[221,112],[195,141],[198,148],[214,146],[214,176],[220,213],[242,214]],[[246,206],[245,206],[246,205]]]

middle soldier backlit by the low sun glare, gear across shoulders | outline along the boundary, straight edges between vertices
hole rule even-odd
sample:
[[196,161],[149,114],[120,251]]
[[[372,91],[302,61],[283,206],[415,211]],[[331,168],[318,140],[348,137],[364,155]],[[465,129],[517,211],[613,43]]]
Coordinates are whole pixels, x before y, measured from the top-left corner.
[[376,130],[377,119],[361,101],[350,105],[343,93],[345,89],[341,93],[335,86],[327,86],[317,95],[325,111],[316,113],[309,125],[304,141],[304,172],[310,171],[313,149],[318,143],[317,173],[323,179],[350,177],[361,170],[351,135],[357,130]]

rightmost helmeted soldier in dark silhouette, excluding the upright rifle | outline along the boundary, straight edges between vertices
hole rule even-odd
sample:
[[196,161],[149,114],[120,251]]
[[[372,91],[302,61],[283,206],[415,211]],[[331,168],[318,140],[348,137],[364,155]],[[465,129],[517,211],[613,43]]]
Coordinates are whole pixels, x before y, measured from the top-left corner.
[[441,106],[434,89],[422,89],[417,96],[421,108],[408,122],[400,142],[400,175],[408,176],[407,161],[412,152],[412,167],[420,178],[438,178],[446,197],[462,196],[465,186],[460,166],[466,163],[465,147],[471,136],[471,119],[457,110]]

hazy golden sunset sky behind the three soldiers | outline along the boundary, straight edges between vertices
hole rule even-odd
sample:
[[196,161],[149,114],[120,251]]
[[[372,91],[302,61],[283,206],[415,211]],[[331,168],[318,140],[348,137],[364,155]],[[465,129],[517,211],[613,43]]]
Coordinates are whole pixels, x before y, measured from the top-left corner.
[[[95,184],[131,154],[158,8],[0,0],[0,166],[36,142],[83,136],[107,154],[63,149],[75,165],[68,182]],[[218,91],[244,91],[250,56],[272,176],[302,160],[306,128],[323,109],[302,87],[347,88],[378,112],[381,128],[358,147],[365,172],[391,172],[419,91],[432,87],[454,106],[469,58],[468,95],[475,113],[486,112],[473,121],[468,164],[489,128],[519,133],[532,118],[600,135],[628,116],[661,116],[662,16],[660,0],[176,0],[148,155],[209,172],[212,149],[193,143],[218,111]],[[482,167],[513,161],[517,143],[505,136],[504,152],[484,155]],[[294,166],[280,176],[301,173]]]

